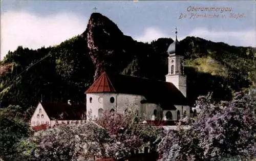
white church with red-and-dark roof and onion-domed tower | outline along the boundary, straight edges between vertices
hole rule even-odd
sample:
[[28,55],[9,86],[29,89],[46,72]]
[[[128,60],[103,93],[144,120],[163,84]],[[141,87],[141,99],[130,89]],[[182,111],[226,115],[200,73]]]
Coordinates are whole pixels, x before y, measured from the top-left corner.
[[178,121],[190,117],[186,99],[184,55],[176,40],[169,45],[165,81],[103,72],[85,92],[87,116],[96,119],[103,111],[133,110],[145,120]]

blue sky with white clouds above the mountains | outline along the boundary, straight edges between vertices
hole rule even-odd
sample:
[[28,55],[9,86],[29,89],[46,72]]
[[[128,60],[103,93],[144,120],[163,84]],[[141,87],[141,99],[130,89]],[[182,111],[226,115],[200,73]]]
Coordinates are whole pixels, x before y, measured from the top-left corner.
[[137,41],[174,39],[177,27],[179,40],[196,36],[256,47],[255,1],[2,0],[1,60],[18,45],[38,49],[81,34],[94,7]]

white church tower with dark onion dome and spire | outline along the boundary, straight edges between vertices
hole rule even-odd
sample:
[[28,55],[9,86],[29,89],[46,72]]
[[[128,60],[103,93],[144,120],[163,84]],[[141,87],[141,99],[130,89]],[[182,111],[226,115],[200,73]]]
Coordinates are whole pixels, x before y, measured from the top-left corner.
[[177,40],[177,28],[175,28],[176,40],[169,45],[168,53],[168,74],[166,82],[173,83],[186,97],[187,78],[184,75],[184,54],[180,51],[180,42]]

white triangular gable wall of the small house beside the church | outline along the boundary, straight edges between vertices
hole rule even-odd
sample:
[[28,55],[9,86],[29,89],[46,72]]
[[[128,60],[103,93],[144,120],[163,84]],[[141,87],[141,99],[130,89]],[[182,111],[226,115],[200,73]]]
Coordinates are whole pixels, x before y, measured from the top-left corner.
[[50,118],[48,117],[45,109],[42,107],[41,103],[38,103],[33,116],[30,120],[31,126],[38,126],[42,124],[50,124]]

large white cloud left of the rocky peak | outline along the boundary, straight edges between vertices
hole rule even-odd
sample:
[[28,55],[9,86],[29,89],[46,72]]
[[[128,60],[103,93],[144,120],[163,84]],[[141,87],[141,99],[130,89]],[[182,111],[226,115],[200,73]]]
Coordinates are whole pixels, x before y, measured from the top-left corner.
[[1,60],[18,45],[38,49],[59,44],[86,30],[87,21],[69,12],[46,17],[27,12],[6,12],[1,15]]

